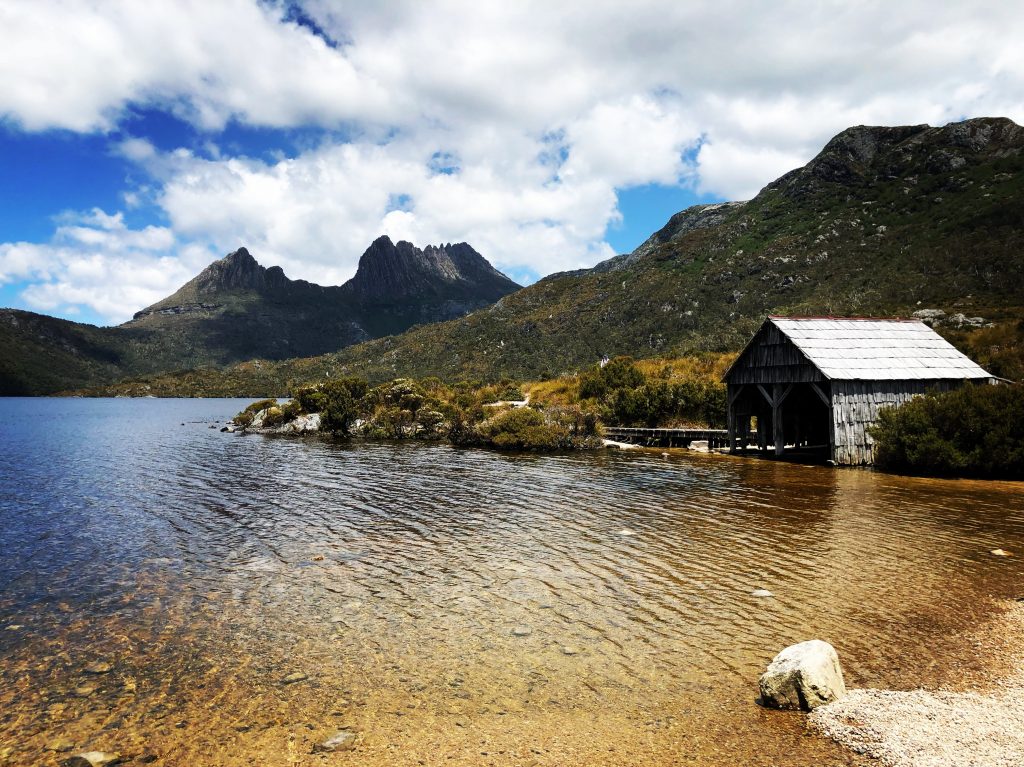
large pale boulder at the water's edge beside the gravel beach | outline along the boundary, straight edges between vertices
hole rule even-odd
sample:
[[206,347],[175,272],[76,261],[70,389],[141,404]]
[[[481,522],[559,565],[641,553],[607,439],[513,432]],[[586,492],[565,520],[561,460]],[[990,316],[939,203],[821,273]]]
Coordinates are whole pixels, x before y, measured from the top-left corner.
[[761,675],[761,701],[773,709],[810,711],[846,694],[836,648],[812,639],[786,647]]

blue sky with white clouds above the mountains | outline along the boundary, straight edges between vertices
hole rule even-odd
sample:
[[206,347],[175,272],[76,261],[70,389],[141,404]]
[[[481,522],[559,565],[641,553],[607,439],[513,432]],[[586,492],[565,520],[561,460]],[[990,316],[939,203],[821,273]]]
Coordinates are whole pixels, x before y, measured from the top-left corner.
[[0,0],[0,306],[119,324],[245,246],[380,235],[528,284],[851,125],[1024,123],[1024,6]]

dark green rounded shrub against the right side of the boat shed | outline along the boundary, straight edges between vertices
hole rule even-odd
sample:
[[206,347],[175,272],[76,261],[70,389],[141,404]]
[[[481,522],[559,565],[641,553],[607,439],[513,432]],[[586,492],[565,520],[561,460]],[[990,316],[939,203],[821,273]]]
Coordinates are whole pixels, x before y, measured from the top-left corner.
[[1024,387],[968,385],[882,411],[870,429],[880,468],[1024,478]]

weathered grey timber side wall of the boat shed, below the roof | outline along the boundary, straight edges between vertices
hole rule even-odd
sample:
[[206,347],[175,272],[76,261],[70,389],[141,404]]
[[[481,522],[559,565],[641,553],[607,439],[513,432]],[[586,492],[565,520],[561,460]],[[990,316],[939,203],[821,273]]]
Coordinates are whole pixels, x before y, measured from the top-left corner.
[[833,460],[845,466],[873,462],[874,440],[867,427],[877,423],[879,411],[895,408],[930,389],[948,391],[961,381],[833,381]]

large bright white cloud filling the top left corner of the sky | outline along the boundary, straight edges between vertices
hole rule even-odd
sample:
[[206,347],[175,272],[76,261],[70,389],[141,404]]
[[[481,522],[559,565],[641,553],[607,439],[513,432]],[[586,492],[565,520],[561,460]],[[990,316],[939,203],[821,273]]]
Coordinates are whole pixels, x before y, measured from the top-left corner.
[[205,128],[386,120],[373,77],[273,3],[12,0],[0,6],[0,115],[30,129],[108,130],[130,104]]

